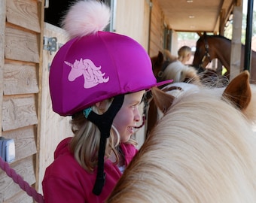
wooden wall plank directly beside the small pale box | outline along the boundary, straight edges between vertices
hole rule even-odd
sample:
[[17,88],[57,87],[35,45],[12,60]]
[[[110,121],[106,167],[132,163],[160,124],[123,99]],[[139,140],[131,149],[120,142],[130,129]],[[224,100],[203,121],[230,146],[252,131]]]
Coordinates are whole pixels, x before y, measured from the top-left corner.
[[35,136],[35,126],[28,126],[8,132],[3,132],[3,137],[14,139],[15,143],[15,162],[24,159],[27,156],[32,156],[37,153]]

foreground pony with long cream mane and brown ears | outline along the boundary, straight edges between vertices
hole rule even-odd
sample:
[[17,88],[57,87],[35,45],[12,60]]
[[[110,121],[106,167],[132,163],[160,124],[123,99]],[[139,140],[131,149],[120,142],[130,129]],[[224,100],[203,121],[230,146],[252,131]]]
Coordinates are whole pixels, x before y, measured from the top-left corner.
[[106,202],[256,202],[256,88],[248,71],[223,88],[152,93],[163,117]]

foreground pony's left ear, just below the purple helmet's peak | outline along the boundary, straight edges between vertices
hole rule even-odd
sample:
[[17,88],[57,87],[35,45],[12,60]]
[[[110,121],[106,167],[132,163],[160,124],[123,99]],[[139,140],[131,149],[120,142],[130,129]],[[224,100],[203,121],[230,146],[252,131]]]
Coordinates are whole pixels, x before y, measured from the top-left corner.
[[163,114],[165,114],[169,107],[172,105],[172,102],[175,99],[175,97],[167,94],[166,92],[163,92],[156,86],[152,87],[151,91],[153,94],[155,104],[157,105],[158,108],[160,108],[160,111],[162,111]]

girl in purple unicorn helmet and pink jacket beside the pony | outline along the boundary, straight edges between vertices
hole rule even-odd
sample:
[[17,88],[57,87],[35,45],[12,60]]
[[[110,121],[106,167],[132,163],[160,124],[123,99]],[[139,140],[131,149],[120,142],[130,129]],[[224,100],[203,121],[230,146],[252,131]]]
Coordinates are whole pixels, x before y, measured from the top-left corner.
[[145,89],[157,83],[151,59],[132,38],[102,31],[109,8],[83,0],[69,9],[70,35],[50,67],[53,111],[72,116],[72,138],[59,143],[42,182],[45,202],[104,202],[136,154],[131,138]]

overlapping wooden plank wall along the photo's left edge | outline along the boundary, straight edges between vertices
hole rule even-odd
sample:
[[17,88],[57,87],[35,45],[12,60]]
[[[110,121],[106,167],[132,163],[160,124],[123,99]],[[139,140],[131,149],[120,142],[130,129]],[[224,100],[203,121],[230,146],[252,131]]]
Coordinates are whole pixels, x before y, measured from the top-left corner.
[[[0,4],[2,136],[15,141],[16,159],[11,168],[35,186],[43,3],[2,0]],[[0,171],[0,180],[0,202],[32,202],[4,171]]]

